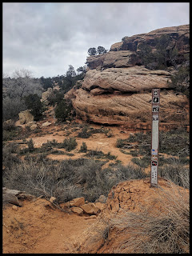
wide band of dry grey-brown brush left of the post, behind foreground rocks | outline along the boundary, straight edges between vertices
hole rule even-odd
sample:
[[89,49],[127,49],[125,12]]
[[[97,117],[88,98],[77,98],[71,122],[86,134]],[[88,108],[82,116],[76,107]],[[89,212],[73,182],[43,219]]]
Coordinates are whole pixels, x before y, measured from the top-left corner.
[[94,202],[101,194],[107,196],[111,187],[118,182],[146,177],[141,168],[134,166],[118,164],[114,168],[102,170],[104,163],[87,158],[58,162],[46,158],[45,153],[33,156],[28,153],[25,160],[19,162],[18,158],[7,154],[3,162],[6,167],[3,185],[36,196],[54,196],[61,202],[81,196]]

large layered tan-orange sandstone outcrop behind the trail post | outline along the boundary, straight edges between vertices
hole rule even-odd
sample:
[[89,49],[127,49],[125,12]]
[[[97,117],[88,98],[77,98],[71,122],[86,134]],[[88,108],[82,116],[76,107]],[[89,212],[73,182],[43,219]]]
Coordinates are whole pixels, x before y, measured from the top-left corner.
[[82,84],[66,94],[78,118],[102,124],[123,125],[131,129],[149,129],[151,120],[151,89],[161,89],[161,128],[189,124],[189,101],[175,94],[167,81],[174,72],[148,70],[139,58],[142,42],[155,49],[155,38],[168,34],[172,49],[178,49],[179,65],[189,54],[189,26],[174,26],[122,38],[106,54],[87,58],[88,71]]

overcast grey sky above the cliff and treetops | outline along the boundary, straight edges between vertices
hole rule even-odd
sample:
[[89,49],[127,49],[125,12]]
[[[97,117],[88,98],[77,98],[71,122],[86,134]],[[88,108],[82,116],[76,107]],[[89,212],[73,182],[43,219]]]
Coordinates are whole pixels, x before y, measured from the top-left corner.
[[3,73],[35,78],[84,66],[90,47],[189,24],[189,2],[3,2]]

